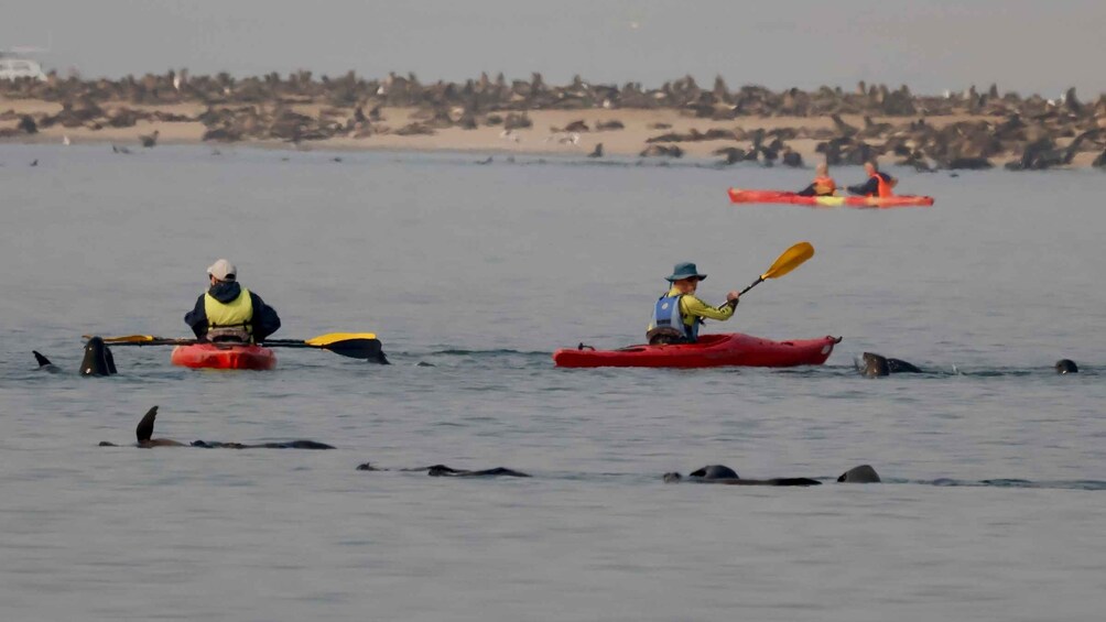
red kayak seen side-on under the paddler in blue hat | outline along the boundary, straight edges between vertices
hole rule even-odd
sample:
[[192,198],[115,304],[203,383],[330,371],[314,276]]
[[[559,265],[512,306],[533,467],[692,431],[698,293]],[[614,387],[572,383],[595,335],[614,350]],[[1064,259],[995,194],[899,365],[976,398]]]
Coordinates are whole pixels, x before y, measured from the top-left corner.
[[695,344],[630,346],[620,350],[562,349],[557,367],[795,367],[822,365],[839,337],[773,341],[740,333],[703,335]]

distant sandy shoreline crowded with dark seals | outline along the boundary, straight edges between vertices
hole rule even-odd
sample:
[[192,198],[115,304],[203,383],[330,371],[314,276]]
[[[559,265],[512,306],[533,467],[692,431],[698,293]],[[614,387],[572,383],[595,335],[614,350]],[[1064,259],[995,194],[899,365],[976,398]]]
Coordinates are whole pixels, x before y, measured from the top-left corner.
[[[188,80],[187,83],[184,81]],[[218,78],[229,80],[229,78]],[[1081,104],[974,91],[919,97],[905,87],[855,93],[712,91],[677,81],[643,92],[515,81],[418,85],[352,76],[325,84],[176,74],[138,81],[0,83],[0,141],[234,144],[261,148],[695,158],[812,168],[918,170],[1106,167],[1106,96]],[[185,84],[182,86],[182,84]],[[597,147],[602,145],[602,151]]]

